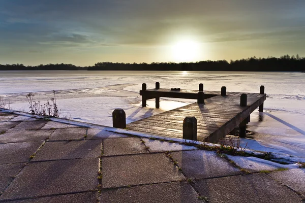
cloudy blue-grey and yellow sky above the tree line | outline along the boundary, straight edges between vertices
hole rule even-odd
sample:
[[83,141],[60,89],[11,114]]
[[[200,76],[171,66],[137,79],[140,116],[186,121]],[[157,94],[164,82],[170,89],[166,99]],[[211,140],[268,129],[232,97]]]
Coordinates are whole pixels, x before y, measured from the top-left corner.
[[0,64],[305,56],[304,0],[0,0]]

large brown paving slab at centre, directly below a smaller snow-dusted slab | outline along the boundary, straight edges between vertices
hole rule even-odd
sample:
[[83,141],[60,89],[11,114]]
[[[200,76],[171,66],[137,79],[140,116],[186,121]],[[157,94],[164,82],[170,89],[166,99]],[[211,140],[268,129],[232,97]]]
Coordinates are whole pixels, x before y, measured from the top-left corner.
[[102,157],[102,187],[160,183],[185,177],[165,154]]

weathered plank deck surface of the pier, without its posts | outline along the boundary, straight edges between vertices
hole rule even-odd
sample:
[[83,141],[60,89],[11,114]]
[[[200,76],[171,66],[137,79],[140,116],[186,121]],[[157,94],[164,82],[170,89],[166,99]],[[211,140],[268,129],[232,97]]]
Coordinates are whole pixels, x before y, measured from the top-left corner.
[[[185,93],[189,92],[191,91]],[[231,96],[232,94],[234,96]],[[161,136],[182,138],[183,120],[186,117],[195,116],[198,141],[216,143],[245,120],[266,99],[266,94],[247,93],[247,106],[241,107],[241,94],[241,92],[227,92],[227,96],[210,97],[205,99],[205,104],[194,103],[163,112],[129,123],[127,128]]]

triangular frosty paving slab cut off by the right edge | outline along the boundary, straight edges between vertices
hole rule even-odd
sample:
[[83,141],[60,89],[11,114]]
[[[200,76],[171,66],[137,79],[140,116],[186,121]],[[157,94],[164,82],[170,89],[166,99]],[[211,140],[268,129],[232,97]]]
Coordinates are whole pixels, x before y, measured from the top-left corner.
[[305,168],[273,172],[268,175],[305,196]]

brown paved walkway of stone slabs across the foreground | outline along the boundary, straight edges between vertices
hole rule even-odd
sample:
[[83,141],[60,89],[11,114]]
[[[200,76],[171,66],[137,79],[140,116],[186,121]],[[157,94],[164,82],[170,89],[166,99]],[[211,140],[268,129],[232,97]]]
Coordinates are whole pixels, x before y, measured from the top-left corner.
[[193,146],[0,110],[0,202],[303,202],[304,169],[248,171]]

